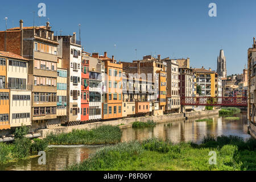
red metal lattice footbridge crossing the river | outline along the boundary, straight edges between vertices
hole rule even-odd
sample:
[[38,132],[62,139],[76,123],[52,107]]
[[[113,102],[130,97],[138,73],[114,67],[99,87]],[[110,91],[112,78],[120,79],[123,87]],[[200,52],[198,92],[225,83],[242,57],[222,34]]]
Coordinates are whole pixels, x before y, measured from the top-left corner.
[[181,97],[180,105],[247,107],[247,97]]

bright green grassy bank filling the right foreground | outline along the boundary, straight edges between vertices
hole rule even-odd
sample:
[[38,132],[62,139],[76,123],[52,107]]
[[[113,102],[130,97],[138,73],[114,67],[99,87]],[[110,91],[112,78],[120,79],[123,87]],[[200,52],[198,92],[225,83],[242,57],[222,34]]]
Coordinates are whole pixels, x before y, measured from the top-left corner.
[[[172,144],[159,139],[106,146],[70,171],[147,170],[256,170],[256,140],[238,137],[206,137],[203,143]],[[209,164],[216,151],[217,165]]]

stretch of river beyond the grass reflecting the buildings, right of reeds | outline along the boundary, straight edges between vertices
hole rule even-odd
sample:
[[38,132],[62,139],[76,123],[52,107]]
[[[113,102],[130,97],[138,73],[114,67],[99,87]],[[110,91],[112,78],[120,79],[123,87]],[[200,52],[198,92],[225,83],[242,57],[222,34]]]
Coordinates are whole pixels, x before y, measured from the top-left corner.
[[206,135],[241,135],[247,136],[245,130],[246,118],[240,121],[222,121],[221,117],[207,117],[212,118],[212,122],[195,122],[196,119],[189,119],[187,121],[172,121],[170,126],[167,123],[160,123],[155,128],[150,129],[124,129],[123,142],[131,140],[144,140],[147,138],[162,138],[164,140],[171,140],[174,143],[179,142],[195,142],[200,143]]

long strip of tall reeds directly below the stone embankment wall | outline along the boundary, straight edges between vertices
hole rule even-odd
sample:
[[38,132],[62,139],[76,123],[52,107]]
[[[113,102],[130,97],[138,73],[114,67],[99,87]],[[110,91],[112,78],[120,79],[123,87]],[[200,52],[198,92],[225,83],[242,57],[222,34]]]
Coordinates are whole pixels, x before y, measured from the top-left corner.
[[118,126],[100,126],[92,130],[73,130],[71,133],[49,134],[46,140],[52,145],[115,144],[121,142],[122,131]]

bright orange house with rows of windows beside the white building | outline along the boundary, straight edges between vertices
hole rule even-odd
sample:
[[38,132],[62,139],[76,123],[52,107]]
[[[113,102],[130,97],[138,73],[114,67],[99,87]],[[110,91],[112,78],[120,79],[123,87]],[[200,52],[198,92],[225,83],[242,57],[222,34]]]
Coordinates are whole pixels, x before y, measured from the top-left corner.
[[98,56],[93,53],[92,57],[105,62],[105,85],[104,102],[102,103],[102,119],[122,118],[122,69],[123,64],[110,59],[107,53]]

